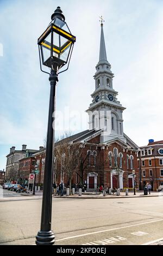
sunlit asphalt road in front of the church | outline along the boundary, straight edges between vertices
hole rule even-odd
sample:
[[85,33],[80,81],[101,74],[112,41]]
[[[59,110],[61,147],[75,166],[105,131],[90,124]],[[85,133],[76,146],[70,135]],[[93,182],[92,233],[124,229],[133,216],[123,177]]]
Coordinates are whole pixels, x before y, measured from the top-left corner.
[[[163,240],[163,197],[54,198],[55,245],[142,245]],[[0,245],[33,245],[42,200],[0,201]]]

